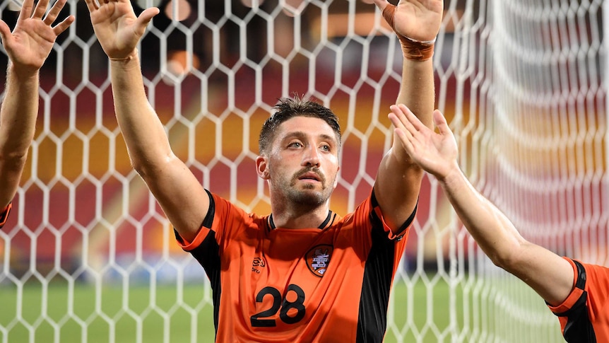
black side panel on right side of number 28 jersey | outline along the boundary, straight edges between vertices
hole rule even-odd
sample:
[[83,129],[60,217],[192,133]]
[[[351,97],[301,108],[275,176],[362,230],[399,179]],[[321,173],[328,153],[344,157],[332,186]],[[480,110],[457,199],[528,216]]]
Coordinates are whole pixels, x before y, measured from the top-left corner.
[[[378,204],[372,194],[372,206]],[[387,328],[387,308],[394,271],[396,241],[390,240],[381,219],[370,214],[372,221],[372,248],[370,248],[360,296],[360,313],[357,318],[358,343],[383,342]]]

